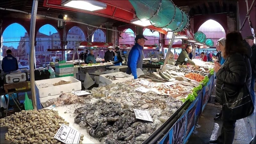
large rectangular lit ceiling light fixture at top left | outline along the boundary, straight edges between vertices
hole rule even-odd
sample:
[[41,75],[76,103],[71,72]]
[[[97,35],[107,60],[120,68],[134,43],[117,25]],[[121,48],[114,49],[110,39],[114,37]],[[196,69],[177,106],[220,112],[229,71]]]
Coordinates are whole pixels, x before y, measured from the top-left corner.
[[107,8],[107,4],[94,0],[63,0],[61,5],[91,12]]

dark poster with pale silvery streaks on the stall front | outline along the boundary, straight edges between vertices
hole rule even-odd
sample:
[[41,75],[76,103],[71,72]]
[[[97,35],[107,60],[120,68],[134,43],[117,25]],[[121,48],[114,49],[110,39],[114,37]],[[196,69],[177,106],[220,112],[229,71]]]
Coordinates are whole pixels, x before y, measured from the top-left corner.
[[187,129],[187,115],[184,113],[173,126],[172,143],[183,143]]

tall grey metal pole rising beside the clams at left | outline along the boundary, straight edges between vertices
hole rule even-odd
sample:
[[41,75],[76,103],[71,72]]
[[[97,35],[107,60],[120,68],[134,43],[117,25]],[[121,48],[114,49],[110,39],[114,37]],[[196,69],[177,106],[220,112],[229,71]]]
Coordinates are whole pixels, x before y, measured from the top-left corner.
[[32,5],[32,12],[31,12],[31,19],[30,19],[30,35],[29,35],[29,41],[30,41],[30,83],[31,83],[31,94],[32,94],[32,101],[33,101],[33,107],[35,110],[37,110],[36,106],[36,89],[35,89],[35,75],[34,75],[34,45],[35,45],[35,28],[36,28],[36,13],[37,13],[37,6],[38,6],[38,0],[33,1]]

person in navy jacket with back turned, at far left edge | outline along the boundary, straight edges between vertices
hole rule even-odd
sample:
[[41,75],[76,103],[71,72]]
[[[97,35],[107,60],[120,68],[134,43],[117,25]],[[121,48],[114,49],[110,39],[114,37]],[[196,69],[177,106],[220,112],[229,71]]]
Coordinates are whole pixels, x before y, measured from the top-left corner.
[[7,56],[3,58],[2,69],[4,72],[15,71],[19,69],[18,61],[12,56],[12,50],[6,51]]

